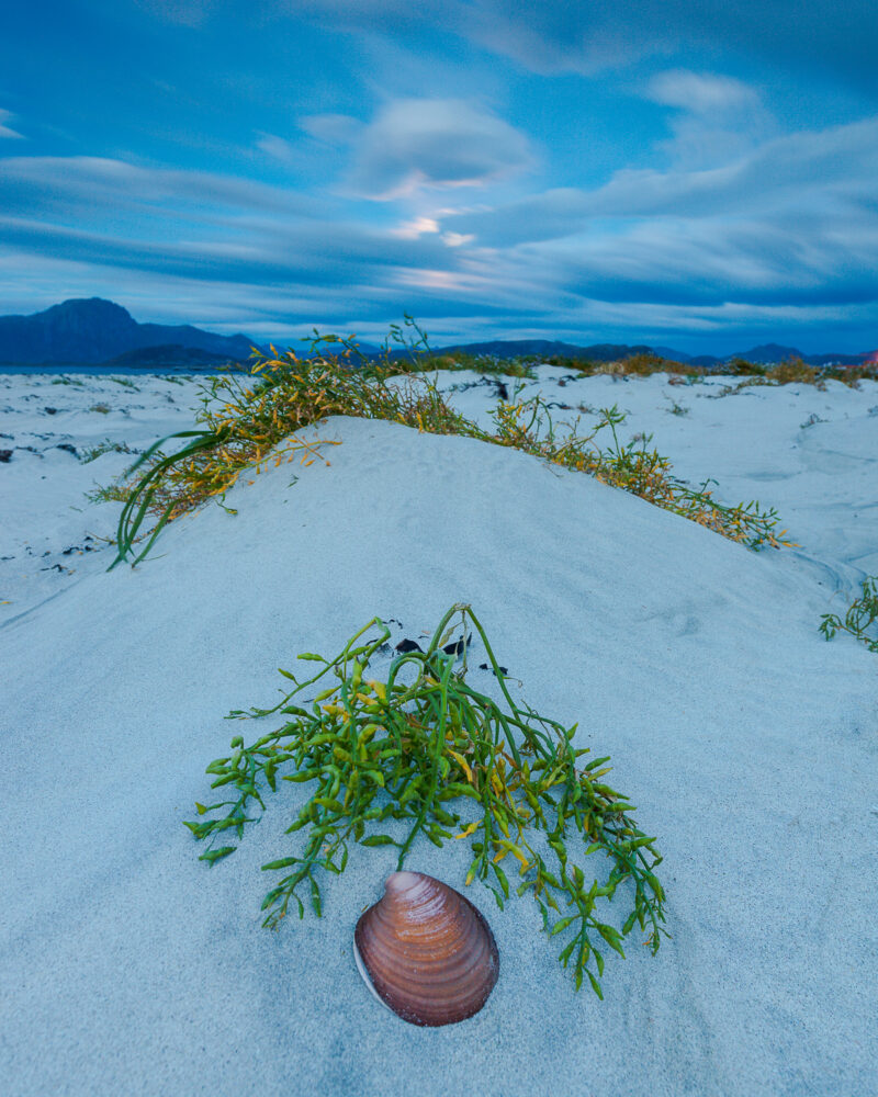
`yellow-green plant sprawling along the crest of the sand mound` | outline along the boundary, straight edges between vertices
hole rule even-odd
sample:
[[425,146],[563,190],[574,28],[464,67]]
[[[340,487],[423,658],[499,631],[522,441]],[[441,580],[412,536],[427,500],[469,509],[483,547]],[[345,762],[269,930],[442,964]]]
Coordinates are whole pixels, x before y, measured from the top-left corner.
[[[574,425],[563,441],[556,441],[550,405],[541,397],[518,400],[516,394],[513,402],[497,404],[496,429],[483,430],[453,411],[436,383],[424,374],[427,360],[417,351],[420,344],[426,347],[426,336],[410,317],[406,317],[406,324],[420,336],[409,348],[413,362],[408,364],[391,362],[385,347],[384,362],[363,359],[361,367],[354,369],[350,359],[360,352],[352,337],[340,340],[336,336],[316,336],[311,358],[299,359],[293,352],[271,359],[262,355],[250,374],[211,378],[202,388],[200,429],[170,436],[185,439],[184,448],[166,456],[160,446],[168,439],[161,439],[128,470],[126,475],[140,465],[147,466],[132,486],[122,489],[125,505],[119,522],[119,553],[111,566],[128,557],[135,564],[143,559],[166,522],[210,498],[222,499],[243,472],[255,470],[258,474],[268,461],[279,464],[292,460],[296,452],[303,462],[315,460],[326,443],[306,444],[293,439],[282,449],[277,446],[296,430],[331,415],[386,419],[431,433],[463,434],[513,446],[589,473],[752,548],[790,544],[781,540],[786,531],[775,533],[774,510],[762,511],[755,500],[724,507],[707,490],[711,480],[705,480],[698,490],[690,489],[672,475],[666,457],[646,451],[645,442],[640,449],[633,443],[620,446],[616,427],[624,416],[616,406],[601,409],[603,418],[587,437],[576,437]],[[392,330],[397,342],[405,341],[398,326]],[[340,357],[317,354],[322,342],[340,343],[345,350]],[[645,369],[650,363],[635,364]],[[393,384],[389,384],[390,378],[394,378]],[[611,429],[615,446],[600,450],[592,441],[605,427]],[[158,521],[146,547],[135,555],[135,540],[147,514],[157,516]]]

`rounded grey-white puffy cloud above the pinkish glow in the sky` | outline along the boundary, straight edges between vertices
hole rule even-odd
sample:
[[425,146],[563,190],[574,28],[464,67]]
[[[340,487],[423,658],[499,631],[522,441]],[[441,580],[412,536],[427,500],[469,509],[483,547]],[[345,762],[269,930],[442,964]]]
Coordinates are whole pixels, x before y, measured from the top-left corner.
[[389,201],[425,186],[484,186],[533,163],[527,137],[485,110],[455,99],[403,99],[363,131],[349,183]]

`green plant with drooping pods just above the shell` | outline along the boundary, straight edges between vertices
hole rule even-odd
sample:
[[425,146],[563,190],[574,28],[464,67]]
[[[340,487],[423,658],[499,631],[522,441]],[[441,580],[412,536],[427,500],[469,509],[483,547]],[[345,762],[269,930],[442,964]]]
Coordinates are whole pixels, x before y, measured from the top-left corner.
[[[453,669],[457,656],[442,651],[454,632],[454,625],[446,629],[455,614],[462,637],[468,622],[481,636],[505,706],[466,683],[462,637],[455,645],[464,653],[462,670]],[[362,640],[373,627],[378,636]],[[578,766],[589,750],[574,748],[576,725],[565,728],[516,704],[468,604],[451,607],[426,652],[401,655],[385,681],[371,679],[370,660],[389,637],[390,630],[374,618],[334,659],[300,655],[323,664],[313,678],[300,682],[282,670],[295,688],[274,708],[230,713],[246,719],[281,712],[291,719],[251,746],[236,736],[234,754],[211,762],[207,773],[215,777],[211,788],[230,785],[237,798],[195,805],[200,816],[230,810],[184,825],[196,839],[213,840],[232,829],[240,838],[244,826],[255,822],[248,808],[258,804],[264,810],[262,782],[277,791],[279,769],[293,770],[281,780],[316,785],[286,832],[307,828],[304,848],[262,866],[285,873],[262,902],[269,911],[263,926],[270,927],[285,917],[291,900],[304,916],[300,889],[319,916],[319,870],[341,873],[354,845],[395,846],[402,868],[419,836],[439,847],[449,838],[469,839],[473,859],[465,884],[481,880],[500,908],[511,886],[500,862],[511,856],[520,878],[517,894],[532,893],[545,932],[554,937],[572,930],[559,959],[565,968],[573,960],[576,989],[585,975],[603,997],[604,957],[597,942],[624,955],[622,940],[638,925],[649,931],[646,943],[656,952],[665,934],[664,891],[653,873],[661,861],[655,839],[637,827],[626,799],[601,782],[609,759]],[[406,685],[408,668],[414,681]],[[311,692],[327,674],[337,682],[306,706],[299,694]],[[386,829],[398,833],[394,837]],[[214,863],[236,848],[212,848],[200,860]],[[609,873],[603,883],[586,883],[577,859],[598,851],[609,858]],[[624,883],[631,885],[631,908],[618,929],[600,921],[597,908]]]

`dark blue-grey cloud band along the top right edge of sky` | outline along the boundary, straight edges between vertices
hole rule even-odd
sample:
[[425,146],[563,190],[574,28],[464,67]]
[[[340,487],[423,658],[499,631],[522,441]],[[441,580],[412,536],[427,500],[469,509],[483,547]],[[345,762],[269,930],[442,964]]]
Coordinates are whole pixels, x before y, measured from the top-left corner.
[[598,76],[646,57],[722,47],[774,69],[809,70],[878,91],[874,0],[275,0],[278,10],[324,26],[387,37],[424,25],[510,58],[543,76]]

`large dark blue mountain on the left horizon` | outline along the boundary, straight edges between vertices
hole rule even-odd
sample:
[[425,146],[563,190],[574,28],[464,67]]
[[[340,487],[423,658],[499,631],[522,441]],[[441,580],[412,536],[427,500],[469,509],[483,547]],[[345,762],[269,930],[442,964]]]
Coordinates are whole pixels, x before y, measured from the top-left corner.
[[130,351],[168,346],[244,362],[254,343],[243,335],[217,336],[189,325],[138,324],[127,309],[100,297],[65,301],[31,316],[0,316],[0,362],[16,365],[98,365]]

